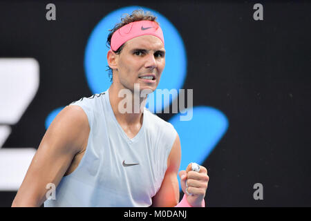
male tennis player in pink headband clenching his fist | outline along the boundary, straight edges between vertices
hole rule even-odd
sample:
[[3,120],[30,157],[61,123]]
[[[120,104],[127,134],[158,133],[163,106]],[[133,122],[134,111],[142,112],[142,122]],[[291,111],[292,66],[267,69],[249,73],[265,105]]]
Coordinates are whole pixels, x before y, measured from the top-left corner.
[[[134,91],[134,84],[140,91],[156,90],[164,69],[164,37],[156,17],[134,11],[111,30],[107,42],[113,83],[55,117],[12,206],[205,206],[209,177],[195,163],[179,173],[185,195],[178,203],[178,134],[144,108],[147,95],[140,98]],[[121,113],[124,90],[130,91],[128,101],[134,104],[136,96],[143,108]],[[56,195],[46,200],[50,184],[57,186]]]

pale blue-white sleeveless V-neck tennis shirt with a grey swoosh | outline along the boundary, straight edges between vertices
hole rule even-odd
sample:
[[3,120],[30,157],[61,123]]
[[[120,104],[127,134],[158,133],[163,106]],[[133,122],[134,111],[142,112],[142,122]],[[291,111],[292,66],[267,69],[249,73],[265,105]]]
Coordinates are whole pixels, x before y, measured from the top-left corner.
[[56,200],[44,206],[151,206],[176,140],[169,122],[144,108],[140,131],[129,139],[117,122],[109,90],[70,105],[82,107],[91,131],[79,165],[62,177]]

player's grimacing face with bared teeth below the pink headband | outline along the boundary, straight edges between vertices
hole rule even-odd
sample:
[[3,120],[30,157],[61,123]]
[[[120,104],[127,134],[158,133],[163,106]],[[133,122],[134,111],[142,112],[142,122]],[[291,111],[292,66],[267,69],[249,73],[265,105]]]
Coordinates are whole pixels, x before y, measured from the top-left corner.
[[[120,55],[116,55],[115,80],[124,88],[134,90],[134,84],[144,89],[156,90],[165,66],[165,50],[162,41],[153,35],[135,37],[126,41]],[[116,83],[117,83],[116,82]],[[117,83],[117,84],[118,84]]]

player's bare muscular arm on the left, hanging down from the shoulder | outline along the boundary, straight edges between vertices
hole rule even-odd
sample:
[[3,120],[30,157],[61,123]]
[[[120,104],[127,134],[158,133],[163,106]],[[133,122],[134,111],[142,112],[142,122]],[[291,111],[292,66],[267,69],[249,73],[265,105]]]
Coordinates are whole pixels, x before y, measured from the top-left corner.
[[12,206],[40,206],[46,184],[57,186],[76,154],[84,150],[88,118],[79,106],[66,106],[46,131]]

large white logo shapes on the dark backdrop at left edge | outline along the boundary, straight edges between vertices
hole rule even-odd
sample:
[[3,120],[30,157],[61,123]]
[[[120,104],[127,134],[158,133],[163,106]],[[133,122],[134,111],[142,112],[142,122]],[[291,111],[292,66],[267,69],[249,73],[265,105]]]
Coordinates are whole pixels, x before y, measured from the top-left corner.
[[[0,148],[39,88],[39,64],[32,58],[0,59]],[[35,148],[0,149],[0,191],[16,191]]]

